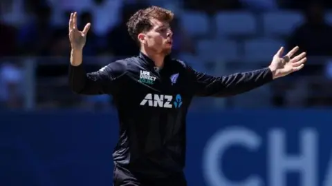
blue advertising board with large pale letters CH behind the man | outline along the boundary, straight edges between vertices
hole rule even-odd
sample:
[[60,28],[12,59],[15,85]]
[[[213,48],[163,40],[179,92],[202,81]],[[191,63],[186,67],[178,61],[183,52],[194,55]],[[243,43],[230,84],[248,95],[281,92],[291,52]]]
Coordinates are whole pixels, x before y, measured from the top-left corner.
[[[0,113],[0,185],[112,185],[116,113]],[[329,110],[187,116],[190,186],[331,186]]]

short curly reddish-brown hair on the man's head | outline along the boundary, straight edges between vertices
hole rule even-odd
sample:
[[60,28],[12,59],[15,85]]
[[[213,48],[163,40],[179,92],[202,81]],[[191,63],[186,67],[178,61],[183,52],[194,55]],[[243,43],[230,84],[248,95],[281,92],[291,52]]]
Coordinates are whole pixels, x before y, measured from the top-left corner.
[[151,6],[149,8],[140,9],[133,14],[127,22],[127,28],[130,37],[137,43],[139,43],[137,38],[138,34],[148,32],[153,27],[150,22],[151,18],[170,23],[174,19],[174,13],[165,8]]

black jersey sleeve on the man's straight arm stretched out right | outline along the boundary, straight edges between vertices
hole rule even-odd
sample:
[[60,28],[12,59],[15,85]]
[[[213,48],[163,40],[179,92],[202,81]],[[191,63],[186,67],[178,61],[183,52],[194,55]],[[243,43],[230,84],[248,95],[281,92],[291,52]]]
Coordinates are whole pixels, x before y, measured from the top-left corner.
[[187,67],[190,72],[195,96],[234,96],[253,90],[273,80],[269,68],[231,74],[228,76],[210,76]]

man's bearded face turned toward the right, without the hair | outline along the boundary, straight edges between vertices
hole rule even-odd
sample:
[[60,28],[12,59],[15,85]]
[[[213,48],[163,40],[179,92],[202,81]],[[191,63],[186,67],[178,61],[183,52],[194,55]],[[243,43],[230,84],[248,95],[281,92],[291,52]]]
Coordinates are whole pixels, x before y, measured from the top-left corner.
[[152,29],[149,32],[138,35],[145,48],[157,53],[169,54],[172,50],[173,32],[169,23],[151,19]]

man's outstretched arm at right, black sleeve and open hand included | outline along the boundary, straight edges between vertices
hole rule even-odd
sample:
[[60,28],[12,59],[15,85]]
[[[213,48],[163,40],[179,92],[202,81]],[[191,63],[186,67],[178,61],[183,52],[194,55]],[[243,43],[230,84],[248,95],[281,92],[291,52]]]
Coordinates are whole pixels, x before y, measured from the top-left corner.
[[209,76],[187,67],[192,76],[192,81],[194,81],[194,94],[198,96],[233,96],[301,70],[306,62],[306,52],[292,58],[297,50],[299,48],[295,47],[283,56],[284,48],[282,47],[273,56],[268,68],[230,76]]

